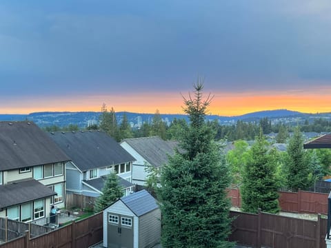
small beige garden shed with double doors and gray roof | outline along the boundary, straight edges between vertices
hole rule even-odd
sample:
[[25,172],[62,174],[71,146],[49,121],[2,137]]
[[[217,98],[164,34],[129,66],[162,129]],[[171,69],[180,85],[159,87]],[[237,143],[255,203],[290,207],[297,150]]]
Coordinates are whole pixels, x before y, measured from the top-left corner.
[[161,238],[161,210],[146,190],[103,210],[103,247],[153,247]]

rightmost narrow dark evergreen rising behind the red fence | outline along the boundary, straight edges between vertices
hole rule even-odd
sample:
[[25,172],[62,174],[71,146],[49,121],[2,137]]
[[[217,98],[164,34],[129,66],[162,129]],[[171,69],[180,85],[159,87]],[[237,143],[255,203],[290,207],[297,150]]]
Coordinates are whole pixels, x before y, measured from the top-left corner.
[[288,141],[287,158],[285,160],[286,183],[288,189],[297,192],[312,185],[310,180],[310,164],[303,149],[303,136],[297,127]]

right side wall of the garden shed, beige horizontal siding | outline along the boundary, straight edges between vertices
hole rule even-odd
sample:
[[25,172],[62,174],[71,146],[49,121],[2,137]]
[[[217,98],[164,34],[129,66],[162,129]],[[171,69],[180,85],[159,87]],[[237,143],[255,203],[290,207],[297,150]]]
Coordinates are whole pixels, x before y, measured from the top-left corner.
[[[161,210],[155,209],[139,217],[139,247],[153,247],[160,242]],[[153,230],[153,231],[150,231]]]

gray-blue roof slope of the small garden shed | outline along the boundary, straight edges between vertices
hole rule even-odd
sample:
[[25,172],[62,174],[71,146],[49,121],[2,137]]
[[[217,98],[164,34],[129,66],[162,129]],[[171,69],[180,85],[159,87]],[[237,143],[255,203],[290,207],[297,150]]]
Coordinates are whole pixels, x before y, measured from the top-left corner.
[[121,197],[121,201],[138,217],[159,208],[157,200],[145,189],[128,196],[123,196]]

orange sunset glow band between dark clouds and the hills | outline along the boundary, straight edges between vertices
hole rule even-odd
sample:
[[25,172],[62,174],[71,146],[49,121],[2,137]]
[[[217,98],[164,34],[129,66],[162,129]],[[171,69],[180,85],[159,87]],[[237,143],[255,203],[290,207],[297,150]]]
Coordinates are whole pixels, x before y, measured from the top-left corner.
[[[246,92],[214,93],[212,103],[208,108],[210,114],[221,116],[237,116],[261,110],[288,109],[305,113],[330,112],[331,99],[325,92],[312,92],[299,94],[289,92],[288,94],[277,94],[272,92]],[[329,91],[330,92],[330,91]],[[205,91],[205,96],[209,92]],[[187,97],[188,94],[182,93]],[[183,98],[179,92],[149,93],[149,94],[121,94],[119,95],[94,95],[77,96],[72,99],[64,97],[47,97],[32,99],[26,97],[24,105],[15,104],[10,106],[0,105],[0,112],[3,114],[29,114],[31,112],[99,112],[102,103],[106,103],[108,110],[114,107],[115,112],[138,112],[154,113],[159,110],[161,114],[183,114]]]

